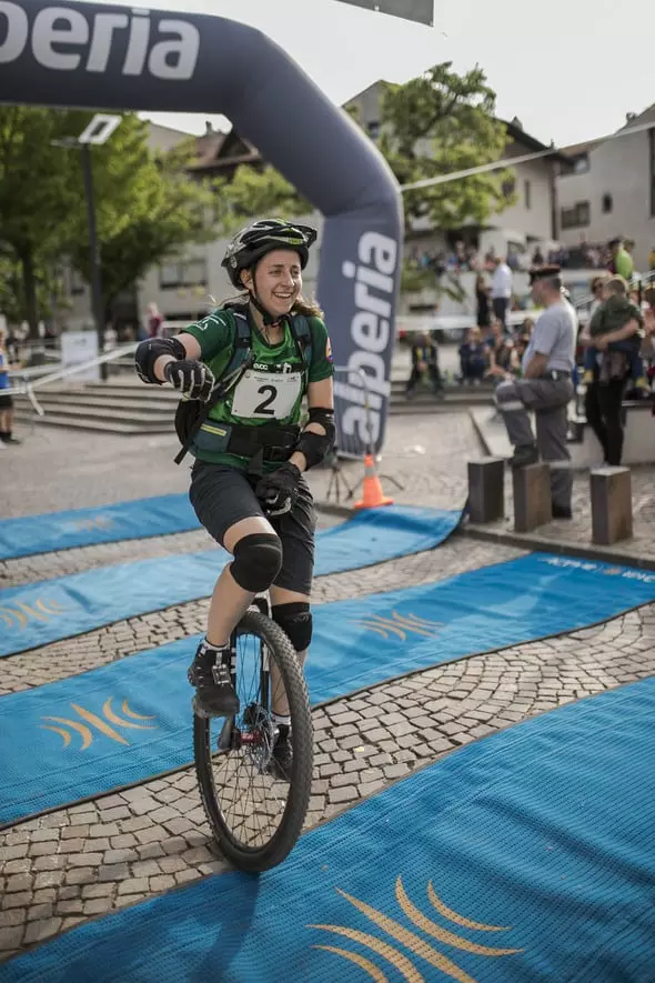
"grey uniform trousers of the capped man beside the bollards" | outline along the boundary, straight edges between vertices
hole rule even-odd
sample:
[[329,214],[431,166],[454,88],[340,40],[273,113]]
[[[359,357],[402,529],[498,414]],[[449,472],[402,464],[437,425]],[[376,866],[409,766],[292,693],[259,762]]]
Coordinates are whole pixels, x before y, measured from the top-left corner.
[[[573,399],[573,382],[560,379],[516,379],[501,382],[495,392],[496,405],[503,414],[507,435],[514,447],[534,444],[535,438],[527,412],[534,411],[536,445],[542,461],[553,462],[551,494],[553,504],[571,508],[573,472],[566,444],[568,431],[566,408]],[[560,467],[557,467],[560,465]]]

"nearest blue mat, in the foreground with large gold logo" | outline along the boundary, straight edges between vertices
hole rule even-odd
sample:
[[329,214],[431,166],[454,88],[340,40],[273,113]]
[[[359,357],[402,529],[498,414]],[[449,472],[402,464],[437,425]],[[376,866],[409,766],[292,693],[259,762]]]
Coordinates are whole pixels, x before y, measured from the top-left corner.
[[494,734],[305,835],[74,929],[0,983],[647,983],[655,680]]

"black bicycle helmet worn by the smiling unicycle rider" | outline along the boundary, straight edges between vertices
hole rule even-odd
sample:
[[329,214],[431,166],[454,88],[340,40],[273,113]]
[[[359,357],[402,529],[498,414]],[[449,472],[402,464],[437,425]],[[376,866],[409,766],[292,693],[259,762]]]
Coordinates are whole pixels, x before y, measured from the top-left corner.
[[310,258],[310,247],[316,241],[316,230],[310,225],[280,219],[252,222],[234,237],[225,250],[221,265],[226,269],[232,285],[242,290],[241,271],[251,270],[274,249],[292,249],[299,254],[301,269],[304,270]]

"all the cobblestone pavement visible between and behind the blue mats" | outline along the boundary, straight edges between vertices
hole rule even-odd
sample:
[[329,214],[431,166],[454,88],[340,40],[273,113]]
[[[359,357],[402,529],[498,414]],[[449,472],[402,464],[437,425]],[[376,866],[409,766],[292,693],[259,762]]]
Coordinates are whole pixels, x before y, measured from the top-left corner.
[[[97,440],[87,448],[77,437],[67,435],[68,442],[61,437],[51,431],[48,439],[38,435],[17,449],[8,514],[185,490],[188,474],[171,465],[173,441],[152,438],[138,445],[103,438],[101,448]],[[114,451],[120,468],[108,465]],[[465,496],[466,460],[480,453],[465,413],[396,418],[390,421],[381,471],[401,478],[405,488],[385,490],[399,502],[453,508]],[[359,478],[361,464],[344,471]],[[48,491],[44,472],[52,474]],[[328,479],[322,472],[312,475],[318,498],[325,495]],[[21,485],[33,491],[24,494]],[[639,493],[647,495],[647,488]],[[204,533],[193,532],[27,558],[2,564],[0,583],[206,544]],[[320,578],[314,601],[420,584],[521,553],[456,534],[436,551]],[[206,605],[206,600],[179,605],[4,659],[0,693],[199,632]],[[471,741],[654,673],[652,604],[593,629],[471,656],[319,706],[308,826]],[[225,869],[212,846],[191,769],[18,823],[0,832],[0,960],[85,919]]]

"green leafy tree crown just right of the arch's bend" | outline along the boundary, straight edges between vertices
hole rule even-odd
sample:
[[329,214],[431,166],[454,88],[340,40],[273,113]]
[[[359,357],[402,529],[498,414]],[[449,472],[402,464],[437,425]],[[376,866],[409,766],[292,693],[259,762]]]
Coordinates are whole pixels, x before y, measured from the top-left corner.
[[[400,184],[413,184],[503,157],[506,130],[495,119],[495,93],[481,68],[463,76],[452,62],[402,86],[384,83],[380,150]],[[403,194],[407,221],[427,217],[433,228],[483,224],[513,203],[511,172],[461,178]]]

